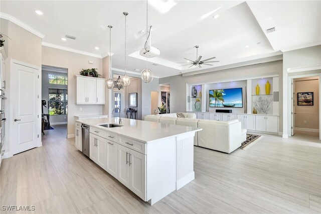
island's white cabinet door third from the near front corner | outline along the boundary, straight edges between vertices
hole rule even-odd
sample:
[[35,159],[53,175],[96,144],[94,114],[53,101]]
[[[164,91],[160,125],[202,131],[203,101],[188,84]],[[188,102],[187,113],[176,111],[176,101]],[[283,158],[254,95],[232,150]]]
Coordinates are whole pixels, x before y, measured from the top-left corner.
[[118,176],[118,144],[112,141],[107,141],[106,144],[106,171],[117,178]]

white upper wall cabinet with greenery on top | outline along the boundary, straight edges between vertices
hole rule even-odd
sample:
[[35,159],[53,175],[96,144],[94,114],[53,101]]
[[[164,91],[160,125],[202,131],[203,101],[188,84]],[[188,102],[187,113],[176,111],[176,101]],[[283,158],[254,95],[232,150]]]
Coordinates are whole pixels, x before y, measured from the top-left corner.
[[105,79],[76,75],[76,104],[105,104]]

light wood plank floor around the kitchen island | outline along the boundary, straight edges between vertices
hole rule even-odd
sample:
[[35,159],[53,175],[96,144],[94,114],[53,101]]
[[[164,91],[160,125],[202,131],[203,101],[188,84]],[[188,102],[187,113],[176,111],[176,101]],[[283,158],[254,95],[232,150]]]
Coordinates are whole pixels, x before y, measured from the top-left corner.
[[248,150],[231,154],[195,147],[196,179],[153,206],[65,137],[58,127],[46,131],[43,147],[3,161],[1,205],[35,205],[36,213],[321,212],[316,137],[265,135]]

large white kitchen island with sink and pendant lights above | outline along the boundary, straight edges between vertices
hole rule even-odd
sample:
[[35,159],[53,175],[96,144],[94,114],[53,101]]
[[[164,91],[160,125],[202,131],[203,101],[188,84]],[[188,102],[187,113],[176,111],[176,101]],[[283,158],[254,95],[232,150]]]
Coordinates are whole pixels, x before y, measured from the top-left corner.
[[81,125],[89,126],[89,157],[151,205],[195,178],[194,136],[199,128],[122,118],[76,120],[76,148],[82,151]]

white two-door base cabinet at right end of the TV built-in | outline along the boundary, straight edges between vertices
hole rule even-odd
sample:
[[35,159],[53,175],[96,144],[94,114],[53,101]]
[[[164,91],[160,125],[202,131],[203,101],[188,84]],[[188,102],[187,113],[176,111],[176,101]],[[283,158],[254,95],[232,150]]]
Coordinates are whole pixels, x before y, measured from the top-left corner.
[[274,132],[278,130],[277,116],[255,116],[255,130],[260,132]]

